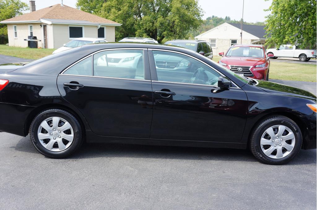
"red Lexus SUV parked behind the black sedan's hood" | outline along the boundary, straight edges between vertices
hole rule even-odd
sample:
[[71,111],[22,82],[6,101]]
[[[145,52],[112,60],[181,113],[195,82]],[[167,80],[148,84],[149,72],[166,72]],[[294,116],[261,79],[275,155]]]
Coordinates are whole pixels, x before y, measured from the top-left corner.
[[244,77],[262,79],[268,81],[268,72],[270,67],[269,58],[273,54],[266,54],[262,45],[233,45],[224,54],[219,52],[223,58],[218,62]]

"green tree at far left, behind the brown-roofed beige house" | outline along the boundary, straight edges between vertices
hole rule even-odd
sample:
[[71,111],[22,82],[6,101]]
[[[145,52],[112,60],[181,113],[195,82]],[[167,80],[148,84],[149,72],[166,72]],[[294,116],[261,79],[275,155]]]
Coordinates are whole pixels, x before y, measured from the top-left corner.
[[[20,0],[0,0],[0,21],[22,15],[28,10],[26,3]],[[8,29],[6,24],[0,24],[0,44],[8,43]]]

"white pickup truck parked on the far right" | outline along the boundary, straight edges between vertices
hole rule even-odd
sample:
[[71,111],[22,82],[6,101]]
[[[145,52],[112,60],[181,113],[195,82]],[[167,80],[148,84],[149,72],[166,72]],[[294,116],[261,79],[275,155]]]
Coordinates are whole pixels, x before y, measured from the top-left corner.
[[273,59],[278,57],[299,58],[300,61],[309,61],[316,58],[316,50],[301,50],[297,45],[281,45],[278,48],[267,49],[266,53],[272,53]]

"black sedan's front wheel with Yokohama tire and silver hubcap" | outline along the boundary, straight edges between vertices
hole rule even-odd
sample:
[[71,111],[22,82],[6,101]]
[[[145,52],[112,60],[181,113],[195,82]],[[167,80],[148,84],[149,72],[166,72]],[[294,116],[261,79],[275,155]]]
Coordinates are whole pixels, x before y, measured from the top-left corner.
[[265,164],[284,164],[298,153],[302,144],[298,125],[285,116],[272,116],[257,124],[250,139],[253,155]]

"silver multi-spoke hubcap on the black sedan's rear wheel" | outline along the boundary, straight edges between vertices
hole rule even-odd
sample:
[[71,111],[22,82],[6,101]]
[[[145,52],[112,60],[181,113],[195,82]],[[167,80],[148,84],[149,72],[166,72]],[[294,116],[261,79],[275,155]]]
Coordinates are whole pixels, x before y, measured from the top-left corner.
[[49,151],[63,151],[73,142],[74,130],[70,123],[60,117],[49,117],[38,128],[37,137]]

